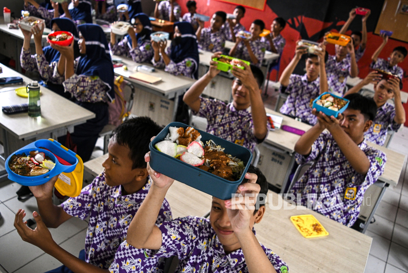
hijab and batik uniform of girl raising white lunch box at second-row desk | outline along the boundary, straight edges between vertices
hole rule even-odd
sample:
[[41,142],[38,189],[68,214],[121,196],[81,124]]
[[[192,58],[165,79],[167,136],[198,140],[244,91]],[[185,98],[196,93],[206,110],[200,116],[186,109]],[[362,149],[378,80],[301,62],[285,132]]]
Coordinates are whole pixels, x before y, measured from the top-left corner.
[[151,58],[154,55],[153,47],[150,43],[150,34],[151,34],[151,24],[149,17],[144,13],[136,14],[134,18],[138,18],[143,25],[143,30],[141,33],[136,33],[136,39],[138,45],[136,48],[133,48],[132,39],[130,35],[126,35],[122,41],[111,45],[109,43],[109,48],[112,51],[113,55],[120,55],[131,57],[135,62],[150,62]]

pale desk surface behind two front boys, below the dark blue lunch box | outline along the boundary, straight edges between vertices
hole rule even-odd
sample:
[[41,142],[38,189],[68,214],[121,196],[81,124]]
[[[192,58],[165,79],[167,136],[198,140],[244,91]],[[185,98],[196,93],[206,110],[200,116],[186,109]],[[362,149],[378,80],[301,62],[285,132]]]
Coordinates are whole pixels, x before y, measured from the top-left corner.
[[[96,177],[103,170],[102,163],[108,154],[84,163],[85,171]],[[166,199],[172,209],[173,218],[185,216],[202,217],[211,209],[212,197],[181,182],[175,181],[166,194]]]

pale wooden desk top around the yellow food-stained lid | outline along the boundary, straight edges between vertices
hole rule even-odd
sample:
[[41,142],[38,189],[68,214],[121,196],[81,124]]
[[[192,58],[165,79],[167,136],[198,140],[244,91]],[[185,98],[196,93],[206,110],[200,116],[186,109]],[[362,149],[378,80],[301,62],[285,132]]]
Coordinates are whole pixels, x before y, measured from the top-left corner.
[[[282,197],[272,191],[269,191],[268,197],[269,202],[278,208],[278,200],[282,202]],[[283,203],[292,207],[286,201]],[[329,235],[304,238],[290,219],[291,216],[304,214],[315,216]],[[363,273],[372,242],[367,235],[303,206],[293,210],[284,209],[283,206],[272,210],[266,204],[262,221],[254,227],[258,241],[281,257],[288,264],[290,272]]]

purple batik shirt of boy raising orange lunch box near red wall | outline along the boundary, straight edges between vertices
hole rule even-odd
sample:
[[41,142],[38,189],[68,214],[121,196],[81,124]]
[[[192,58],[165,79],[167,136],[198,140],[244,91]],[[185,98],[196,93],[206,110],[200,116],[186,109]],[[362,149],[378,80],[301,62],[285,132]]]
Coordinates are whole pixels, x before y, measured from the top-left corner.
[[347,76],[350,75],[351,57],[347,55],[344,59],[337,62],[335,55],[329,55],[326,61],[326,74],[329,92],[340,95],[344,94]]

